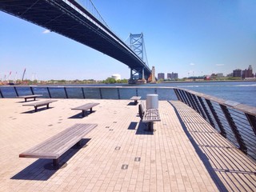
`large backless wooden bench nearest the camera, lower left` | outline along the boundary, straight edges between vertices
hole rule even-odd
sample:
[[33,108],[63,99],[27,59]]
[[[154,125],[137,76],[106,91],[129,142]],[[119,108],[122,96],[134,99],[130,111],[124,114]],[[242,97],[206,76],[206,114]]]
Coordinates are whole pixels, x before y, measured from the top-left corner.
[[93,130],[97,124],[74,124],[46,141],[19,154],[20,158],[53,159],[54,166],[59,165],[59,158],[72,146],[81,145],[81,139]]

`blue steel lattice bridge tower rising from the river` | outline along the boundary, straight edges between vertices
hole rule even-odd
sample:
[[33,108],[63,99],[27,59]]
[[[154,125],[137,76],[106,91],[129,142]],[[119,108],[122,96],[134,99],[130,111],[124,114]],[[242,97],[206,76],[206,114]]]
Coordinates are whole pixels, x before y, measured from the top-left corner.
[[[143,38],[143,33],[141,34],[130,34],[129,35],[128,46],[130,49],[134,51],[135,54],[138,55],[139,58],[148,66],[147,57],[146,57],[146,49]],[[132,69],[130,68],[130,80],[129,83],[146,83],[146,78],[144,75],[144,67]]]

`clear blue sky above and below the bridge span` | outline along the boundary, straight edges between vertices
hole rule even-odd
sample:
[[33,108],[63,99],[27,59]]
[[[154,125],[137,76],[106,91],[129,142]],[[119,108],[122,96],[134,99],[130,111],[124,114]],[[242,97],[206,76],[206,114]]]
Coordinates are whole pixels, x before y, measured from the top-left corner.
[[[86,2],[86,0],[81,0]],[[256,72],[256,0],[93,0],[122,40],[144,34],[158,73]],[[0,78],[130,78],[125,64],[71,39],[0,11]]]

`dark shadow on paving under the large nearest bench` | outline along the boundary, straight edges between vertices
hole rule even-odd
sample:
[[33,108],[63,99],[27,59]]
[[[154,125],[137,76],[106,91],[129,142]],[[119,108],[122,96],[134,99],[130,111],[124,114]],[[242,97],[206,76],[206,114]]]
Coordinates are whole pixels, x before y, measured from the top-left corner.
[[57,170],[64,169],[68,166],[67,162],[70,158],[72,158],[78,150],[85,148],[87,146],[86,143],[89,141],[90,138],[82,138],[81,146],[73,146],[70,150],[67,150],[65,154],[62,154],[59,163],[60,166],[57,169],[53,166],[52,159],[38,159],[10,179],[47,181]]

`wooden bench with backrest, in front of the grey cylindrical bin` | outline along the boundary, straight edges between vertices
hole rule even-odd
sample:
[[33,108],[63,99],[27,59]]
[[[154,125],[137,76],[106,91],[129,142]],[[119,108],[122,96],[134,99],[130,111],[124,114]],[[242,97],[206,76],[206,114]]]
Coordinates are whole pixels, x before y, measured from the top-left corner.
[[147,109],[145,108],[144,102],[138,105],[138,113],[142,122],[146,122],[150,131],[154,130],[154,122],[160,122],[160,114],[158,109]]

